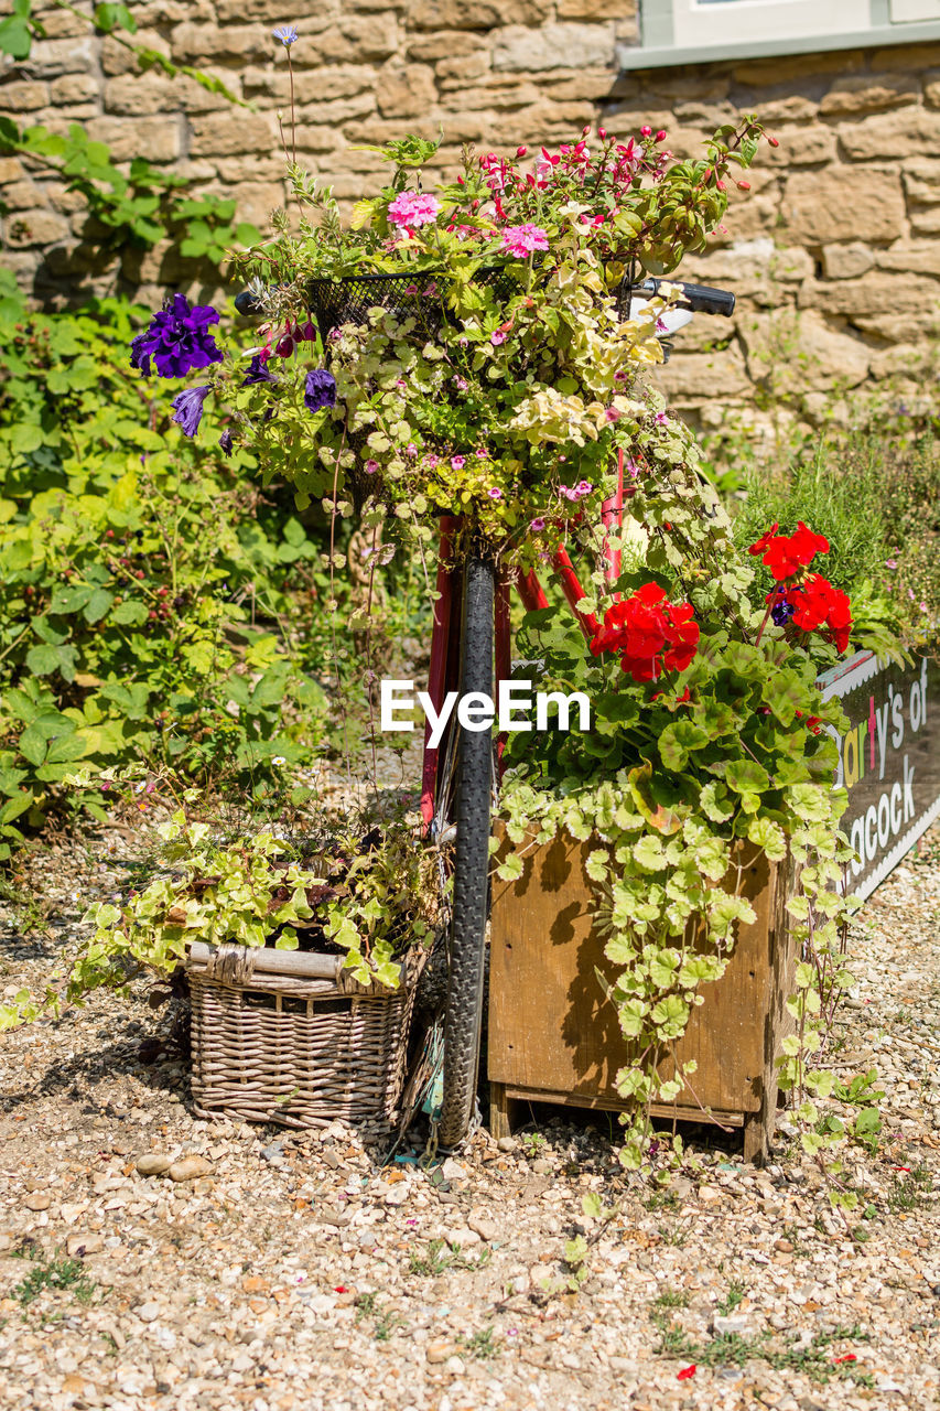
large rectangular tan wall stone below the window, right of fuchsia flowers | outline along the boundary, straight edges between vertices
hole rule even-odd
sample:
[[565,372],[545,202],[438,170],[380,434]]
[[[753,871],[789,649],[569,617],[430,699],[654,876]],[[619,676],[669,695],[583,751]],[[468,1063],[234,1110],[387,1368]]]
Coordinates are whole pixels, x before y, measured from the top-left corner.
[[795,172],[783,188],[782,216],[790,240],[823,246],[840,240],[898,240],[905,233],[900,172],[828,168]]

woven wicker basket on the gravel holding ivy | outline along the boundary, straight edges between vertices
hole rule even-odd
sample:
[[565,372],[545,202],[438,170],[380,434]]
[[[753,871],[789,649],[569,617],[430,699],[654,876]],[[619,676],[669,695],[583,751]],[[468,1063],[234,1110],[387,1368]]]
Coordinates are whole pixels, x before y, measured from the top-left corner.
[[412,952],[390,991],[358,985],[336,955],[193,945],[186,976],[198,1115],[288,1127],[390,1119],[423,962],[423,951]]

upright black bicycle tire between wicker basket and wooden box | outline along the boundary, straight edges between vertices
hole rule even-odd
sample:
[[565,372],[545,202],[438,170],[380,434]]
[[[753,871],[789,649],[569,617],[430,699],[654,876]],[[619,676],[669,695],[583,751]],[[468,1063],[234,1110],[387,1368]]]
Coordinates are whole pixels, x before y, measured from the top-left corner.
[[[471,691],[493,696],[494,594],[493,563],[471,555],[464,570],[462,696]],[[493,797],[493,729],[457,728],[457,838],[445,1007],[443,1102],[438,1129],[438,1140],[445,1150],[466,1137],[477,1089]]]

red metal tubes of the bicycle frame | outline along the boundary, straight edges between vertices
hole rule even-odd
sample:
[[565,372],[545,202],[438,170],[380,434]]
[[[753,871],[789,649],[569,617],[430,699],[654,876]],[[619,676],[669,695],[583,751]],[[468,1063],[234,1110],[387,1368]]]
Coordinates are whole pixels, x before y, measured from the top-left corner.
[[[629,491],[627,492],[629,494]],[[615,583],[621,570],[620,547],[610,545],[611,532],[618,532],[624,522],[624,453],[617,453],[617,488],[601,505],[601,525],[604,529],[604,557],[605,577],[608,583]],[[440,519],[440,547],[438,553],[438,581],[435,617],[430,629],[430,667],[428,672],[428,696],[436,715],[440,714],[447,696],[447,689],[453,690],[456,667],[453,660],[454,642],[457,634],[452,632],[454,608],[459,612],[460,604],[454,591],[454,571],[449,567],[459,521],[453,515]],[[582,587],[574,567],[567,555],[567,549],[560,545],[550,557],[552,570],[560,583],[562,591],[572,605],[574,617],[584,634],[586,641],[591,641],[600,628],[597,618],[591,612],[579,611],[577,604],[587,597]],[[512,669],[512,645],[510,629],[510,591],[515,587],[528,612],[548,607],[548,598],[534,569],[526,573],[512,570],[501,574],[497,584],[495,598],[495,679],[497,693],[501,682],[507,682]],[[457,624],[459,626],[459,624]],[[450,667],[450,669],[449,669]],[[497,758],[501,761],[505,735],[497,738]],[[425,755],[422,769],[421,813],[425,828],[430,827],[435,816],[435,785],[438,780],[438,763],[440,751],[430,746],[430,721],[425,725]]]

